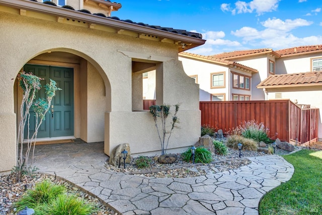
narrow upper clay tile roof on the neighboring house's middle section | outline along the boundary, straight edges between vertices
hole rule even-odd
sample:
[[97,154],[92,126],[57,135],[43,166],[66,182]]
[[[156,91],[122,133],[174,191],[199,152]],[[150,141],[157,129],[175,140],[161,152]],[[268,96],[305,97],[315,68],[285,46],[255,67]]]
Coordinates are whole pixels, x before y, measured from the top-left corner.
[[233,58],[239,58],[239,57],[244,57],[249,55],[260,55],[260,54],[266,54],[266,53],[271,53],[276,57],[280,57],[279,54],[277,54],[275,51],[269,48],[224,52],[221,54],[212,55],[212,57],[220,58],[220,59],[233,59]]

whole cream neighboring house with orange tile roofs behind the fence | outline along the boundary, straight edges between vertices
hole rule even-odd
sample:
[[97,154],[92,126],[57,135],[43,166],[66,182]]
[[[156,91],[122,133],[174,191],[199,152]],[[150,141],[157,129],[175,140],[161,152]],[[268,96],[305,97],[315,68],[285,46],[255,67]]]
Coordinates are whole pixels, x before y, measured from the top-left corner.
[[[182,52],[179,60],[187,75],[200,85],[200,101],[217,100],[216,95],[220,100],[247,100],[250,96],[250,100],[290,99],[322,110],[322,45],[213,56]],[[247,78],[248,91],[243,88]],[[322,138],[321,114],[318,137]]]

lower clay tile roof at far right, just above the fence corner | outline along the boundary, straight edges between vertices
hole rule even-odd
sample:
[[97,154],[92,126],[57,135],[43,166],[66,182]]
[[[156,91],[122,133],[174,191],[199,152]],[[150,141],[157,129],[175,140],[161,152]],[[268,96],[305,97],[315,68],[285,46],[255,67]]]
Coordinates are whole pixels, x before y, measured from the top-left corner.
[[322,85],[322,71],[271,75],[257,85],[257,88],[276,88],[299,85]]

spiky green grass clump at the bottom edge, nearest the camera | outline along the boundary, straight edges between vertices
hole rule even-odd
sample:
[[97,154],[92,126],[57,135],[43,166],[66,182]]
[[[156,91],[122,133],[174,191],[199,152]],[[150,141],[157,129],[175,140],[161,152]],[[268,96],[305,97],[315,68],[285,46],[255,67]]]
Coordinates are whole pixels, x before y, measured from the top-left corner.
[[84,204],[82,199],[72,194],[60,194],[44,208],[48,215],[88,215],[95,212],[94,206]]

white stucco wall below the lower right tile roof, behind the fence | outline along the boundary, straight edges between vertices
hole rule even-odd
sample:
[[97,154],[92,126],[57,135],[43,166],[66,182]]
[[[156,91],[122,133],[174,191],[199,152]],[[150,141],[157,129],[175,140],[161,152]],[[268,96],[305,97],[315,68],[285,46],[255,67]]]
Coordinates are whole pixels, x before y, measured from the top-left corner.
[[310,104],[311,107],[319,109],[319,122],[318,122],[318,138],[322,139],[322,89],[320,86],[314,87],[288,87],[267,89],[268,99],[275,99],[275,93],[281,92],[282,99],[290,99],[294,101],[297,99],[298,104]]

